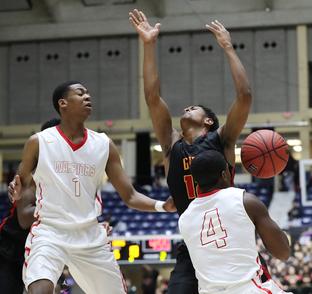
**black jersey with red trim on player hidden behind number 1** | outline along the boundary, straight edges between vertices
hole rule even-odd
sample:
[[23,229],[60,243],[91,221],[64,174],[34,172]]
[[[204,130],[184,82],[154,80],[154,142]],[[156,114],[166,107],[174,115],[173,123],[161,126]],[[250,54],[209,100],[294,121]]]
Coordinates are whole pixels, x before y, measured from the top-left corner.
[[0,223],[0,257],[12,261],[23,259],[29,230],[20,227],[16,202],[10,203],[7,217]]

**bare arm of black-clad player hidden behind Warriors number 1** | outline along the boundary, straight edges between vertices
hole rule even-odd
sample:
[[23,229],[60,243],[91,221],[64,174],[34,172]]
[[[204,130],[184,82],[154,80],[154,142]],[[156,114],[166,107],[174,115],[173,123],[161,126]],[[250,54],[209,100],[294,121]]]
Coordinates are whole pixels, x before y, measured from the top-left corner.
[[28,229],[37,221],[34,217],[36,209],[36,184],[34,180],[29,183],[23,197],[16,201],[18,223],[22,229]]

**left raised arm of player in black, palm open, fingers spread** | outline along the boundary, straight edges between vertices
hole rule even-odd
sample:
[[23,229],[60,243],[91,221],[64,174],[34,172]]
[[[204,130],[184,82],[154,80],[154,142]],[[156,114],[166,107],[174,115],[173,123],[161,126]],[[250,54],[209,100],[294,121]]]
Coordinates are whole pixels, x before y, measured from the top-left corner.
[[143,80],[146,104],[158,142],[165,157],[171,151],[172,143],[182,137],[172,128],[172,120],[167,104],[160,97],[160,84],[155,57],[155,41],[159,34],[160,23],[151,27],[143,12],[134,9],[129,13],[130,21],[144,42]]

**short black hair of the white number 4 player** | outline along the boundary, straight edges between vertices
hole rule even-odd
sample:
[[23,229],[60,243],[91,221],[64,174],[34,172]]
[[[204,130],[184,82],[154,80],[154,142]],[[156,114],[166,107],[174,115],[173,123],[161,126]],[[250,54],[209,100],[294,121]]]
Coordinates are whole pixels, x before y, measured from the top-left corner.
[[226,168],[227,161],[220,152],[207,150],[193,158],[190,170],[194,181],[201,189],[216,185]]

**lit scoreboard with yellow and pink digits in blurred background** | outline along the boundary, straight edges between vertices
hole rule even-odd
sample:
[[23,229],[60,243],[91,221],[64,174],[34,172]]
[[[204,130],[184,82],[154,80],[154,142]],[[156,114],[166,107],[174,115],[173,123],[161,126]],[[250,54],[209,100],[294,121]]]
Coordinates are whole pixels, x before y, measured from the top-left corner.
[[176,263],[177,248],[181,242],[181,235],[111,239],[112,251],[119,264]]

